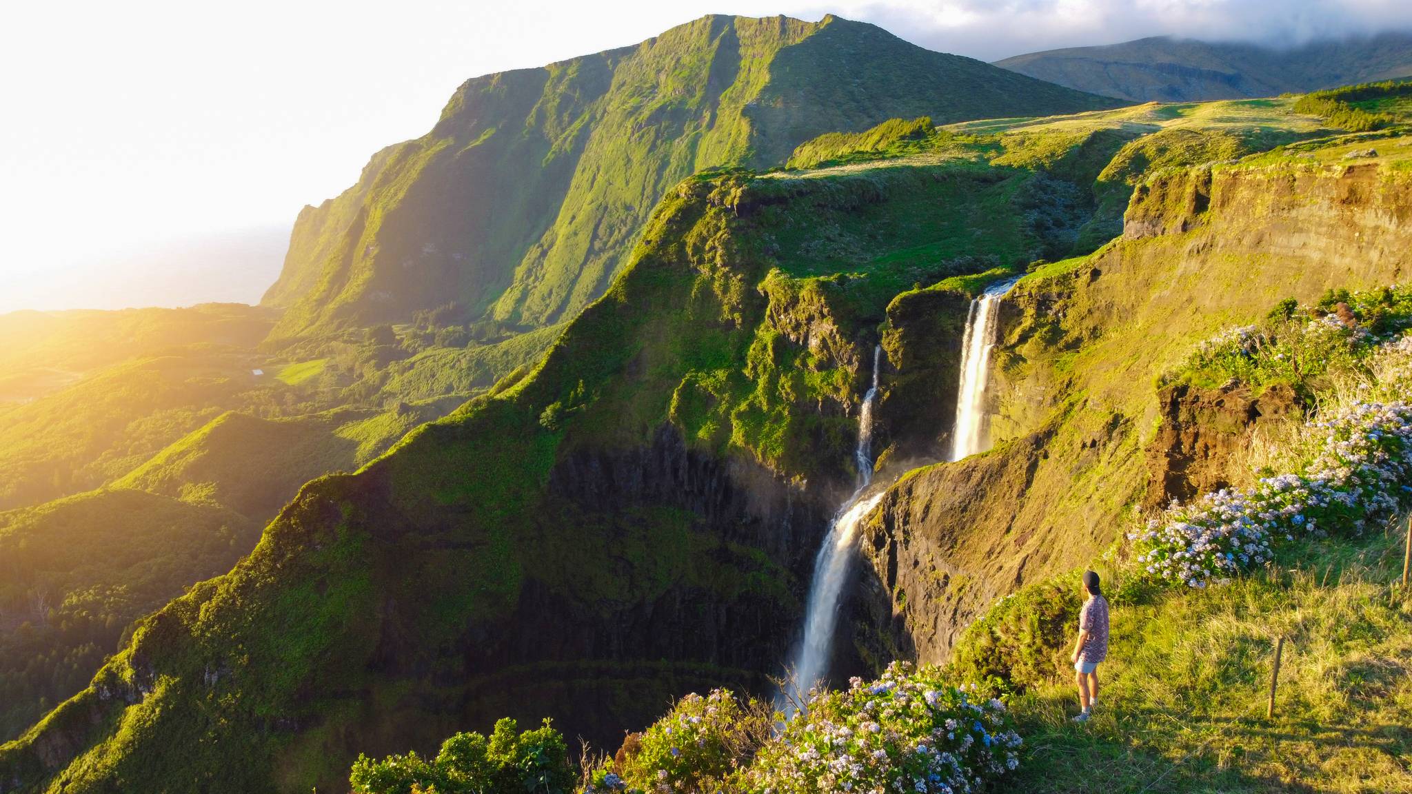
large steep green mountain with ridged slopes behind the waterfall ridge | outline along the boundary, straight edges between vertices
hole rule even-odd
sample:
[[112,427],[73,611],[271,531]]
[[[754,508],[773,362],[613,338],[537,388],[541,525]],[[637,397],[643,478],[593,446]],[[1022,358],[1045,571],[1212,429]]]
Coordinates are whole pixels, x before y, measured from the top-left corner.
[[264,304],[273,338],[405,322],[542,326],[627,264],[692,172],[764,168],[826,131],[1111,107],[861,23],[712,16],[635,47],[456,90],[426,136],[377,153],[295,225]]

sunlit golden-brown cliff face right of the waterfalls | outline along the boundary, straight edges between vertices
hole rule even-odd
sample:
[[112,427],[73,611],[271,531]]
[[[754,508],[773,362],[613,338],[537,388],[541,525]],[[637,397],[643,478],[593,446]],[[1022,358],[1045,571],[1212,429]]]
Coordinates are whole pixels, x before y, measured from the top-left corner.
[[995,598],[1094,558],[1141,504],[1228,482],[1231,451],[1293,396],[1159,394],[1156,377],[1281,298],[1391,284],[1412,266],[1412,179],[1339,154],[1165,172],[1135,192],[1123,240],[1019,281],[993,374],[1001,442],[884,499],[856,646],[943,660]]

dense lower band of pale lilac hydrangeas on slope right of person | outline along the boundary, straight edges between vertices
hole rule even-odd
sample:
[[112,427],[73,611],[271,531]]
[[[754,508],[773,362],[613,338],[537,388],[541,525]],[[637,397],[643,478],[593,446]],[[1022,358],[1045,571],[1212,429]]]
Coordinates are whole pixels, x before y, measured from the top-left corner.
[[[1398,373],[1412,353],[1406,338],[1380,346],[1374,370]],[[1382,393],[1402,393],[1381,384]],[[1412,493],[1412,405],[1401,400],[1350,400],[1306,425],[1289,473],[1255,486],[1173,504],[1130,534],[1149,575],[1190,588],[1224,582],[1272,558],[1272,544],[1329,531],[1361,533],[1391,517]]]

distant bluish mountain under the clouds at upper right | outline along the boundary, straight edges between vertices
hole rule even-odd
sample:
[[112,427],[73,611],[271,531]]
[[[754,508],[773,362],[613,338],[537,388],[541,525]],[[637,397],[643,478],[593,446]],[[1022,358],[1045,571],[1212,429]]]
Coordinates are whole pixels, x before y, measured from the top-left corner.
[[1412,32],[1292,49],[1166,37],[1015,55],[997,66],[1131,102],[1275,96],[1412,75]]

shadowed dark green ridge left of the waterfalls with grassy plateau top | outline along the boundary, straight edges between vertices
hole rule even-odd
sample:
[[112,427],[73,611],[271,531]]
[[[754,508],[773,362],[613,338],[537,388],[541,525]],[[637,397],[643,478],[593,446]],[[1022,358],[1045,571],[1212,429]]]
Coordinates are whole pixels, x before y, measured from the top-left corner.
[[[818,168],[679,184],[532,372],[308,485],[236,569],[145,620],[88,691],[4,746],[0,771],[37,790],[335,787],[359,752],[498,716],[602,742],[671,694],[765,688],[853,480],[873,346],[888,359],[878,448],[935,454],[979,287],[1117,235],[1107,196],[1148,199],[1152,164],[1202,172],[1332,134],[1292,105],[892,123],[801,150]],[[980,500],[1014,516],[1014,496]],[[1063,543],[1027,575],[1096,541]],[[853,632],[840,672],[881,658],[877,629]]]

